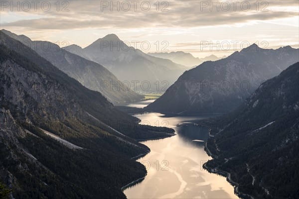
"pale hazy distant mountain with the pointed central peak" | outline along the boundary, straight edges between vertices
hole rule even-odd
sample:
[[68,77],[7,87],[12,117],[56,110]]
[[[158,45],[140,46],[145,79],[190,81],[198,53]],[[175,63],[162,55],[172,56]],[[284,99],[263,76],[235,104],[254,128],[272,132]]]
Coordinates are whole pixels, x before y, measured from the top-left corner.
[[185,70],[170,60],[129,47],[115,34],[106,35],[83,49],[72,45],[64,49],[103,65],[138,91],[165,91]]

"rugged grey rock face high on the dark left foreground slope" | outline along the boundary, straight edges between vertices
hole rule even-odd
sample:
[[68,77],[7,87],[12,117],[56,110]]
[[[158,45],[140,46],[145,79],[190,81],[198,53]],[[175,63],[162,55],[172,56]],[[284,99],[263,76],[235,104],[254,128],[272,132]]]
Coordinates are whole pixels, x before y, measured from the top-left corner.
[[44,74],[28,71],[12,60],[1,63],[0,73],[2,103],[17,106],[25,115],[38,114],[45,119],[78,114],[79,105],[71,99],[68,90]]

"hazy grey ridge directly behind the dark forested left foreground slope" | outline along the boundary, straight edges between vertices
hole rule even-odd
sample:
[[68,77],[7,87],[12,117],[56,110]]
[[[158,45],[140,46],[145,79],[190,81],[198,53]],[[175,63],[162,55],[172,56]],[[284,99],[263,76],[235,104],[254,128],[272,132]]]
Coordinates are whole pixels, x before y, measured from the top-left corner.
[[[132,91],[100,64],[72,54],[48,41],[32,41],[24,35],[16,35],[7,30],[0,31],[19,40],[83,86],[102,93],[115,104],[143,99],[143,96]],[[76,47],[80,49],[79,46]]]

